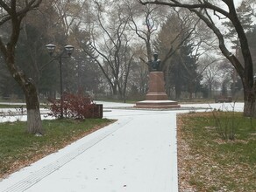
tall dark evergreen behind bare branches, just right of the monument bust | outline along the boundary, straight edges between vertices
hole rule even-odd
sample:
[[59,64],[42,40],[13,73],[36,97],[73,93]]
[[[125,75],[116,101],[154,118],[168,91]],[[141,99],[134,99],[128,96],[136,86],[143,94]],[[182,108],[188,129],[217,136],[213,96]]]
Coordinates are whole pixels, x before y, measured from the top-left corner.
[[160,52],[162,58],[161,69],[166,74],[167,93],[170,96],[174,87],[175,99],[181,98],[182,91],[188,92],[192,99],[196,85],[200,84],[196,72],[195,47],[198,43],[192,34],[195,32],[195,24],[196,20],[189,17],[188,12],[175,10],[167,16],[167,21],[162,24],[158,38],[154,41],[154,49]]

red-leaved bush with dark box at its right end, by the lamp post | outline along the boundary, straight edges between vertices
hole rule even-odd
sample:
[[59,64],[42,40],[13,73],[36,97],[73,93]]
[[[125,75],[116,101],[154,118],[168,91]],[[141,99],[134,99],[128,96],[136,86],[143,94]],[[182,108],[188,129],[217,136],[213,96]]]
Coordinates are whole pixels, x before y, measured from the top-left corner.
[[[60,99],[51,101],[52,115],[60,118]],[[73,119],[102,118],[102,107],[96,105],[89,97],[80,94],[65,93],[63,95],[63,116]]]

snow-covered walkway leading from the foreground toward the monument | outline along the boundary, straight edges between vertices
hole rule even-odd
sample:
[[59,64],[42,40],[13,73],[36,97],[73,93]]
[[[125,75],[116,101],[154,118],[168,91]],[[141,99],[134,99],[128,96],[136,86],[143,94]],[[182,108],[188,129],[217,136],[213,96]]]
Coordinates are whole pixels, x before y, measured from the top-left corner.
[[117,122],[12,174],[0,191],[178,191],[176,113],[188,111],[103,106]]

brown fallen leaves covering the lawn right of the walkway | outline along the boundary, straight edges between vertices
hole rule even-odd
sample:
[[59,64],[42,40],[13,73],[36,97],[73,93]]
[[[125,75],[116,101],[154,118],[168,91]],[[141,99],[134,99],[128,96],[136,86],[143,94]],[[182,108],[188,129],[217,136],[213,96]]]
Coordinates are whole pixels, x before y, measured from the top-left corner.
[[[181,114],[177,116],[179,191],[255,191],[256,164],[239,161],[229,151],[220,152],[217,146],[225,144],[245,145],[248,141],[223,141],[216,139],[205,142],[203,137],[195,138],[190,122],[197,117],[210,117],[209,113]],[[206,120],[205,120],[206,121]],[[214,134],[214,128],[204,127]],[[216,134],[215,134],[216,135]],[[195,143],[201,143],[201,147]]]

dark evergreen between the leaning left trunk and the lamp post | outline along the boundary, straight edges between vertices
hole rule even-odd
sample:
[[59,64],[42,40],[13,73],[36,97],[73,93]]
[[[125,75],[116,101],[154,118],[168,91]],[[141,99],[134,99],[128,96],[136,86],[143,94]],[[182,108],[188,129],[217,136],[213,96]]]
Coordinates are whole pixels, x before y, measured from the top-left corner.
[[60,87],[58,62],[49,63],[48,39],[46,30],[39,28],[38,19],[37,23],[24,24],[17,46],[18,67],[35,81],[38,92],[44,95],[52,95]]

